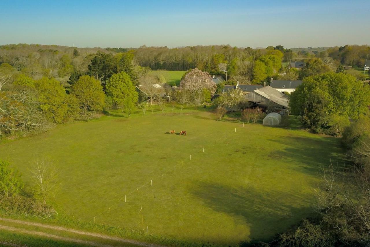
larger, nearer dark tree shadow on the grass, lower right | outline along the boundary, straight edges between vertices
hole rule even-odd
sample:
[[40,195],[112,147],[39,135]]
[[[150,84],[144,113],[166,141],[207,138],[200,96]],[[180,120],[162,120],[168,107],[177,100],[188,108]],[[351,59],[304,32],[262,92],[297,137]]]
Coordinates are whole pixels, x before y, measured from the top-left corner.
[[[303,218],[313,214],[307,207],[310,199],[304,194],[283,193],[274,190],[257,191],[253,187],[229,187],[226,185],[199,182],[191,193],[200,198],[212,210],[226,213],[236,221],[245,221],[250,227],[250,240],[243,246],[258,241],[270,241],[273,234],[282,233]],[[302,202],[302,207],[291,204]]]

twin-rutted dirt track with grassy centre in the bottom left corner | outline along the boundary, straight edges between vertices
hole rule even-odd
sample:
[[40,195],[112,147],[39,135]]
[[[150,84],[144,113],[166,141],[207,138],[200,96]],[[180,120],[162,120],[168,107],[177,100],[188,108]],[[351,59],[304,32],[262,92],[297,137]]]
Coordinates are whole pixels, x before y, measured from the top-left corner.
[[[43,228],[53,229],[53,230],[57,230],[57,231],[67,231],[67,232],[70,232],[70,233],[76,233],[76,234],[85,235],[85,236],[92,236],[92,237],[112,240],[112,241],[116,241],[118,243],[134,244],[134,245],[137,245],[137,246],[145,246],[145,247],[164,247],[164,246],[161,246],[161,245],[158,245],[158,244],[149,244],[149,243],[139,242],[139,241],[136,241],[136,240],[126,239],[126,238],[111,237],[111,236],[107,236],[107,235],[103,235],[103,234],[99,234],[99,233],[90,233],[90,232],[87,232],[87,231],[80,231],[80,230],[75,230],[75,229],[72,229],[72,228],[65,228],[65,227],[47,225],[47,224],[42,224],[42,223],[34,223],[34,222],[23,221],[23,220],[13,220],[13,219],[8,219],[8,218],[1,218],[1,217],[0,217],[0,221],[7,221],[7,222],[21,224],[21,225],[32,225],[32,226],[36,226],[36,227],[43,227]],[[47,237],[47,238],[54,238],[54,239],[57,239],[57,240],[69,241],[69,242],[74,242],[74,243],[86,244],[86,245],[90,245],[90,246],[113,247],[112,245],[104,245],[104,244],[100,244],[100,243],[95,243],[94,241],[80,240],[78,238],[60,237],[60,236],[53,235],[53,234],[43,233],[43,232],[39,232],[39,231],[24,230],[24,229],[17,228],[17,227],[8,227],[8,226],[1,225],[1,224],[0,224],[0,229],[8,230],[8,231],[14,231],[14,232],[17,232],[17,233],[43,236],[43,237]]]

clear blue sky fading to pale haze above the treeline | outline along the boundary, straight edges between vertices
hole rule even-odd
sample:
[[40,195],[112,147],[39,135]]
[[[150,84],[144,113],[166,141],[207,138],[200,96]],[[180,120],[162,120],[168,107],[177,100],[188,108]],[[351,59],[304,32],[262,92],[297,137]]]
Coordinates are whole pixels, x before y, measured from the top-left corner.
[[368,1],[0,0],[0,45],[370,44]]

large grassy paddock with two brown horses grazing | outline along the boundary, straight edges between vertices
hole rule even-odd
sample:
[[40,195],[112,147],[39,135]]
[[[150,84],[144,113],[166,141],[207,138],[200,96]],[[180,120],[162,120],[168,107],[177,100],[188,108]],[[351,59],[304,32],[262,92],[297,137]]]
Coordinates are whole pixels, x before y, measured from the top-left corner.
[[320,166],[342,152],[339,139],[295,126],[243,127],[206,111],[166,110],[59,125],[0,145],[0,157],[27,186],[28,169],[53,159],[61,185],[51,203],[76,220],[234,245],[271,240],[309,216]]

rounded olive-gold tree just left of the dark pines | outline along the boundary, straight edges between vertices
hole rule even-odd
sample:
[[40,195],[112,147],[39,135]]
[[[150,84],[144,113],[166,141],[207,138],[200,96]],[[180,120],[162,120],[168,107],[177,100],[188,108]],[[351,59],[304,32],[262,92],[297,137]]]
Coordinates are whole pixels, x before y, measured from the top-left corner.
[[74,83],[71,93],[80,102],[84,111],[101,111],[104,106],[104,92],[97,79],[84,75]]

